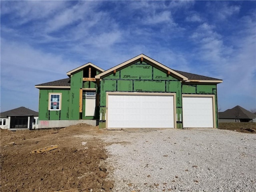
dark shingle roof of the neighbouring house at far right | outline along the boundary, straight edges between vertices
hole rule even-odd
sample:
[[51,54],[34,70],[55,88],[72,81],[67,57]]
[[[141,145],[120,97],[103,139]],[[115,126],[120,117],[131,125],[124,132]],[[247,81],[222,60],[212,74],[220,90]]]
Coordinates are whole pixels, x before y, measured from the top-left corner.
[[228,109],[224,112],[219,112],[219,119],[253,119],[255,118],[256,114],[240,107],[235,106],[232,109]]

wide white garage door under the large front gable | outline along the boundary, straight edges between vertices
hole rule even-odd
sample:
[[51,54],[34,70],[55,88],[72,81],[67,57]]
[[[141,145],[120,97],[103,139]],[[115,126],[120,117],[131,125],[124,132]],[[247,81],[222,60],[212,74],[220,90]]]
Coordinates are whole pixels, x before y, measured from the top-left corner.
[[174,128],[174,94],[107,93],[107,128]]

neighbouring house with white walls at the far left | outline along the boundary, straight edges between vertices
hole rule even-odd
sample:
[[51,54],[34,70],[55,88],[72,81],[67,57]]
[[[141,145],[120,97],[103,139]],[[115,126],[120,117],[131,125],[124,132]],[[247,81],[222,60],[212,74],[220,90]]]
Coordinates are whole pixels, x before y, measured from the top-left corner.
[[38,112],[25,107],[1,112],[0,128],[10,130],[37,129]]

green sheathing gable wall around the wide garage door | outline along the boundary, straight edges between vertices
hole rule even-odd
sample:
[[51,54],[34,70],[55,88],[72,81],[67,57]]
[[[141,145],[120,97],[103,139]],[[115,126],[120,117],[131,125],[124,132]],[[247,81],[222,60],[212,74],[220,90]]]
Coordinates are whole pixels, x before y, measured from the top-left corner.
[[[182,116],[181,82],[166,72],[147,64],[136,62],[104,77],[100,82],[99,127],[106,128],[106,92],[168,92],[176,93],[176,110]],[[174,114],[176,115],[176,114]],[[177,128],[182,128],[179,118]]]

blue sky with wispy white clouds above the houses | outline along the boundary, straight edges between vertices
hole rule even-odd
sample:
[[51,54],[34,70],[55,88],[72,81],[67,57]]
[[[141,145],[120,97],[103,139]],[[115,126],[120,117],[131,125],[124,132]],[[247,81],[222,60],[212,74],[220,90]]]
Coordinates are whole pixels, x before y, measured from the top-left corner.
[[34,86],[141,53],[223,80],[220,111],[256,108],[256,1],[0,1],[1,112],[38,111]]

